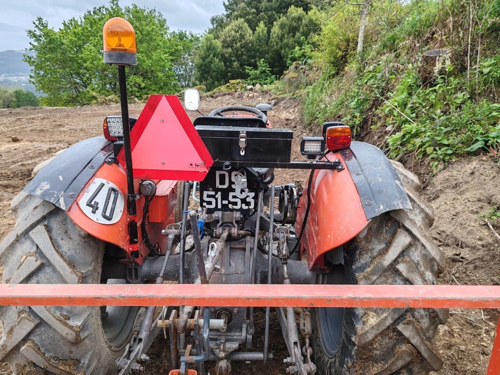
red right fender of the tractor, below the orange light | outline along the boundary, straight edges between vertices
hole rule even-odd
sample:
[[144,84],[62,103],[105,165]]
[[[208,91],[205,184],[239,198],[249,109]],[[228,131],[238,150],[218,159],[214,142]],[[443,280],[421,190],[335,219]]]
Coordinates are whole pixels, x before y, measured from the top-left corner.
[[[307,255],[309,269],[323,268],[324,254],[354,238],[369,222],[340,153],[329,153],[326,158],[339,159],[344,169],[314,171],[309,215],[300,241],[300,250]],[[306,185],[298,201],[296,230],[302,227],[308,189]]]

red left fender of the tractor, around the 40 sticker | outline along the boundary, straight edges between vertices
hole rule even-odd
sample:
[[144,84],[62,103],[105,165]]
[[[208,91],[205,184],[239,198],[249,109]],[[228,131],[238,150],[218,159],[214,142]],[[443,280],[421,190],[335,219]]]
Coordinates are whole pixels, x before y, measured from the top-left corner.
[[[82,230],[102,241],[115,244],[121,247],[128,255],[131,249],[128,248],[129,235],[127,223],[132,217],[127,215],[126,203],[125,209],[121,214],[120,219],[114,224],[100,224],[90,219],[78,205],[78,201],[82,198],[85,191],[92,185],[95,178],[104,178],[114,183],[126,197],[126,175],[125,171],[119,164],[102,164],[95,174],[83,187],[75,201],[67,210],[67,214]],[[149,205],[149,219],[147,223],[147,233],[151,243],[157,243],[161,252],[165,251],[166,237],[161,235],[161,229],[164,229],[167,224],[174,222],[174,208],[177,201],[177,181],[174,180],[155,180],[156,194]],[[135,191],[138,191],[139,180],[134,180]],[[132,259],[138,264],[142,264],[143,258],[149,253],[149,249],[142,243],[140,232],[140,223],[142,222],[142,207],[144,205],[144,197],[141,195],[137,200],[137,216],[133,217],[137,221],[138,239],[140,244],[140,254],[138,258]]]

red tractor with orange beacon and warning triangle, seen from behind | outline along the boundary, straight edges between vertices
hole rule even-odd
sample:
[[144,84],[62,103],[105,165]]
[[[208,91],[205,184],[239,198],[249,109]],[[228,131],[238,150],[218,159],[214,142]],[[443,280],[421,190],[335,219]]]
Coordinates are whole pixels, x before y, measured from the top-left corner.
[[[177,96],[151,95],[131,118],[133,28],[112,18],[103,33],[121,116],[106,117],[104,136],[58,154],[14,198],[16,224],[0,244],[3,283],[436,283],[443,255],[428,234],[432,209],[401,164],[351,141],[339,122],[303,137],[306,159],[291,161],[293,132],[269,126],[267,104],[218,108],[191,123]],[[187,109],[198,100],[186,90]],[[305,187],[273,185],[275,168],[310,170]],[[286,373],[416,375],[443,364],[432,342],[446,310],[275,314]],[[233,362],[272,359],[269,317],[267,307],[261,333],[254,309],[239,306],[0,307],[0,362],[23,375],[140,373],[164,330],[172,373],[228,374]]]

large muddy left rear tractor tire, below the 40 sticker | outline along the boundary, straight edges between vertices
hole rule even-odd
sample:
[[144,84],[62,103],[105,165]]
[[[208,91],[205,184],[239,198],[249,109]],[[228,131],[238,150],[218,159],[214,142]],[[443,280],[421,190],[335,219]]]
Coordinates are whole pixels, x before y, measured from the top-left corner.
[[[15,227],[0,243],[2,283],[106,282],[100,279],[104,243],[64,211],[24,192],[14,198],[12,210]],[[113,372],[136,313],[135,307],[0,307],[0,365],[8,363],[22,375]]]

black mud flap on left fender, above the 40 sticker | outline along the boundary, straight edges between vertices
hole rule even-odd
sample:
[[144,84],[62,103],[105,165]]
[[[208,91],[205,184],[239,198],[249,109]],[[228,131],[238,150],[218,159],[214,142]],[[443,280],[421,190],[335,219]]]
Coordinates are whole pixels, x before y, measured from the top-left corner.
[[23,191],[67,211],[111,152],[111,142],[103,136],[75,143],[50,160]]

